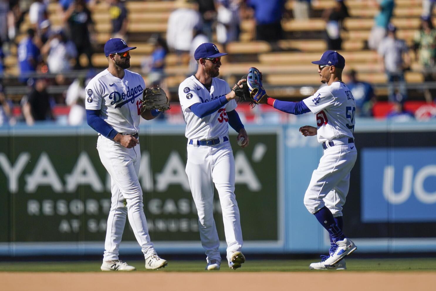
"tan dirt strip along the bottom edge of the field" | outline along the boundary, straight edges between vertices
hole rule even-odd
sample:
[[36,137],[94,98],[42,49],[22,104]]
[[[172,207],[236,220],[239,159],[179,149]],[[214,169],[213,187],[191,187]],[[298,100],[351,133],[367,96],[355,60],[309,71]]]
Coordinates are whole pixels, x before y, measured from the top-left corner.
[[[0,273],[4,291],[99,290],[317,290],[331,282],[341,290],[431,290],[434,272]],[[338,283],[340,282],[340,283]]]

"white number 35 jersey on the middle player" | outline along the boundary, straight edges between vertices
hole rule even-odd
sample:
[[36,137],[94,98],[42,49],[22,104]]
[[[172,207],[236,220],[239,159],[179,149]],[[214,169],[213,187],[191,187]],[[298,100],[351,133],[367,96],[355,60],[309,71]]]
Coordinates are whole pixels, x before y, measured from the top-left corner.
[[223,105],[217,112],[200,118],[189,107],[195,103],[205,103],[230,92],[228,83],[218,78],[212,78],[211,91],[209,92],[200,81],[191,76],[179,86],[179,99],[186,123],[185,136],[188,139],[208,140],[214,137],[228,135],[227,112],[235,110],[236,101],[231,100]]

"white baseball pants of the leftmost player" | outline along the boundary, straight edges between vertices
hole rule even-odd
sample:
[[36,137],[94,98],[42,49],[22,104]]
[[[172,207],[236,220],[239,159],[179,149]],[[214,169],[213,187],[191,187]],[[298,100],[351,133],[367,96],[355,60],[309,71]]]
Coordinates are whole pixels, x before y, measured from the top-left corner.
[[[100,135],[97,150],[102,164],[111,177],[112,192],[103,260],[118,260],[119,243],[126,225],[126,215],[129,217],[130,226],[132,226],[144,257],[149,257],[151,253],[155,253],[155,250],[148,234],[142,188],[138,180],[141,161],[140,146],[138,144],[133,148],[126,148]],[[124,205],[124,199],[126,199],[126,205]]]

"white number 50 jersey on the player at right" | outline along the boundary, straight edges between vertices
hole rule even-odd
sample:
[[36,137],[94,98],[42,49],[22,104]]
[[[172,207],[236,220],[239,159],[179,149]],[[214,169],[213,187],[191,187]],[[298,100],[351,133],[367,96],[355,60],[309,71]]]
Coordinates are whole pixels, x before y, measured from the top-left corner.
[[333,82],[324,86],[303,102],[317,116],[320,143],[353,137],[356,102],[344,83]]

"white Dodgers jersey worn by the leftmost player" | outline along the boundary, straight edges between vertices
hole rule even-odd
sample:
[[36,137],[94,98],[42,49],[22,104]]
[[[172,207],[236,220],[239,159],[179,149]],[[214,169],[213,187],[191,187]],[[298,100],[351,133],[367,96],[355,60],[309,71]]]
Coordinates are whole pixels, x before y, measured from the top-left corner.
[[140,74],[124,70],[123,79],[108,69],[96,75],[86,86],[85,108],[101,110],[101,117],[119,133],[139,132],[144,79]]

